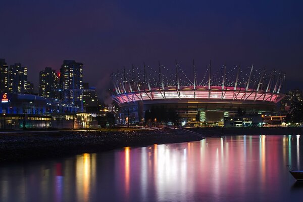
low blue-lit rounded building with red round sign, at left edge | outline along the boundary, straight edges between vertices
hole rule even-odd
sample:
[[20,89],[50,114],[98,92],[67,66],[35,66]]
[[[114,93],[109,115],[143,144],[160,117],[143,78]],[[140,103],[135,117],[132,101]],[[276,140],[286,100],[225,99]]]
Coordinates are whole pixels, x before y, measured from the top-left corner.
[[53,127],[54,117],[66,120],[76,116],[77,110],[74,106],[33,94],[3,93],[0,129]]

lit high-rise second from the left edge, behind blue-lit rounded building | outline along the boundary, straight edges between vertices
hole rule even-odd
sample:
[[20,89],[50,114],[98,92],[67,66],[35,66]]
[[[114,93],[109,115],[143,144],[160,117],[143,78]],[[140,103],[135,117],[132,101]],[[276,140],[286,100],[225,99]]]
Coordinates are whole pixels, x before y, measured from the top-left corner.
[[21,63],[15,63],[15,65],[10,66],[8,75],[8,91],[12,93],[26,93],[27,67],[22,67]]

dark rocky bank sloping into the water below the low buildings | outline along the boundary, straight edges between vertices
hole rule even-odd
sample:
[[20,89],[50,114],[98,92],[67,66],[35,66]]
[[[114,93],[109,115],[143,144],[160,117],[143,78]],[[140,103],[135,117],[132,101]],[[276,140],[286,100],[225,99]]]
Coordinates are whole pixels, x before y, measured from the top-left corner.
[[0,162],[57,158],[83,153],[163,143],[198,141],[182,129],[130,131],[51,131],[0,134]]

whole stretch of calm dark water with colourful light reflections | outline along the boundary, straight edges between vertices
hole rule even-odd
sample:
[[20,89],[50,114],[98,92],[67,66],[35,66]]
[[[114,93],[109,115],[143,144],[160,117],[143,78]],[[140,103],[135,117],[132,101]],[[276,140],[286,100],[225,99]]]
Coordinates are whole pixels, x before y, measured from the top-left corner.
[[[303,201],[303,137],[227,136],[0,166],[0,201]],[[38,152],[38,151],[37,151]]]

